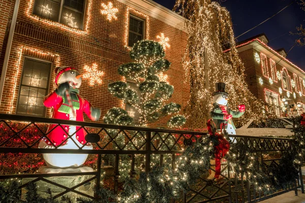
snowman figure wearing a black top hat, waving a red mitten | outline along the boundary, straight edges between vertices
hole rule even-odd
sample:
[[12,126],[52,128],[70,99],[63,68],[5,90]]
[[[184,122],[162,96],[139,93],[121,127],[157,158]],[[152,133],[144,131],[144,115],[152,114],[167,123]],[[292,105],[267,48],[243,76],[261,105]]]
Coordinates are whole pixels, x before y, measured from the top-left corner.
[[225,83],[216,83],[216,91],[212,93],[213,96],[213,110],[210,116],[215,122],[217,130],[226,130],[227,133],[236,134],[232,118],[239,118],[245,111],[245,105],[239,105],[239,111],[232,111],[228,108],[228,93],[225,92]]

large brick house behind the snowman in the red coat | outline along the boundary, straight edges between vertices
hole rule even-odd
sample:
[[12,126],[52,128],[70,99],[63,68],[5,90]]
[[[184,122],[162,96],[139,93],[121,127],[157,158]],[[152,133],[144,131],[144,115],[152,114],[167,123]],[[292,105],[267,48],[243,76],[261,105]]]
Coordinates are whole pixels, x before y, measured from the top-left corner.
[[[102,83],[90,86],[89,80],[83,80],[80,94],[101,108],[102,116],[112,107],[133,113],[107,86],[123,80],[117,68],[131,61],[129,50],[135,42],[160,41],[161,33],[170,45],[166,58],[172,64],[166,74],[175,89],[171,101],[187,104],[189,86],[184,83],[181,65],[187,45],[185,19],[165,7],[150,0],[19,0],[16,4],[0,0],[0,5],[0,67],[5,69],[1,113],[50,117],[43,97],[55,88],[55,67],[75,66],[83,74],[85,66],[94,64],[104,72]],[[115,17],[103,13],[103,6],[117,9]],[[14,15],[16,25],[10,32]],[[7,55],[6,47],[10,47]],[[165,122],[157,125],[161,123]]]

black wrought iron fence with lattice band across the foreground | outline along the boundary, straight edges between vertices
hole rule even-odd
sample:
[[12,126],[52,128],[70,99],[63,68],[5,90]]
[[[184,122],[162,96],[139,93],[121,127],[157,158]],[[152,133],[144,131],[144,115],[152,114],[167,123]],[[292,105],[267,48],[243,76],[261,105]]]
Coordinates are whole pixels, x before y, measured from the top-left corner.
[[[171,159],[171,166],[174,168],[177,154],[181,154],[185,149],[186,140],[196,142],[199,138],[207,136],[206,132],[181,131],[171,129],[146,128],[134,126],[118,126],[100,123],[77,122],[67,120],[57,120],[50,118],[37,118],[28,116],[18,116],[11,114],[0,114],[0,153],[28,153],[28,154],[43,154],[43,153],[75,153],[75,154],[97,154],[96,161],[97,170],[94,172],[84,173],[64,173],[64,174],[3,174],[1,179],[30,179],[29,182],[44,181],[45,183],[62,188],[54,198],[58,198],[74,192],[88,198],[95,198],[94,195],[89,195],[78,190],[79,187],[85,184],[96,181],[95,187],[100,187],[101,181],[101,165],[102,155],[112,154],[115,156],[114,161],[114,192],[118,192],[119,180],[119,156],[130,155],[131,166],[130,176],[135,177],[135,156],[145,156],[145,172],[149,172],[151,168],[151,157],[158,155],[158,163],[164,165],[165,156]],[[42,126],[55,124],[55,126],[47,131]],[[80,126],[79,130],[84,130],[86,133],[96,133],[100,136],[100,141],[93,144],[93,149],[82,149],[87,143],[79,146],[79,149],[60,149],[75,133],[69,134],[65,125]],[[47,137],[54,128],[60,127],[66,134],[66,139],[60,144],[52,143]],[[29,131],[28,129],[31,128]],[[285,138],[269,138],[269,137],[247,137],[247,136],[230,136],[233,142],[242,142],[254,152],[257,152],[256,159],[260,162],[257,167],[262,165],[278,164],[281,156],[274,159],[264,159],[263,153],[281,152],[291,150],[292,140]],[[44,139],[53,146],[52,149],[38,148],[39,142]],[[75,142],[75,141],[73,141]],[[215,171],[214,165],[211,165],[210,171]],[[287,191],[294,190],[297,194],[297,189],[301,188],[304,193],[302,184],[302,175],[299,168],[299,178],[294,184],[288,185],[277,193],[266,195],[261,191],[255,191],[249,180],[244,174],[238,175],[235,173],[230,164],[222,163],[221,176],[223,180],[215,182],[206,179],[206,171],[202,171],[202,176],[198,182],[191,186],[188,193],[182,193],[180,197],[173,199],[176,202],[256,202]],[[67,187],[64,184],[56,183],[49,177],[69,177],[69,176],[88,176],[88,178],[73,187]],[[26,187],[29,183],[26,182],[20,188]]]

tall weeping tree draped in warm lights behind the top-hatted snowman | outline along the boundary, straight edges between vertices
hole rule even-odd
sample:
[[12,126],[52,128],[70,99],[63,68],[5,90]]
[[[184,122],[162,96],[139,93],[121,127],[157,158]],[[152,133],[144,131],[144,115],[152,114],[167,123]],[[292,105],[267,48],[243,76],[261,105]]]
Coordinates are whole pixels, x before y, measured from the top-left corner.
[[[186,82],[191,86],[186,108],[187,126],[200,128],[206,125],[210,117],[211,93],[215,91],[217,82],[227,84],[231,109],[239,104],[246,105],[246,113],[241,117],[243,121],[260,119],[263,102],[248,90],[229,12],[210,0],[177,0],[174,10],[188,19],[188,44],[183,58]],[[229,51],[224,52],[227,49]]]

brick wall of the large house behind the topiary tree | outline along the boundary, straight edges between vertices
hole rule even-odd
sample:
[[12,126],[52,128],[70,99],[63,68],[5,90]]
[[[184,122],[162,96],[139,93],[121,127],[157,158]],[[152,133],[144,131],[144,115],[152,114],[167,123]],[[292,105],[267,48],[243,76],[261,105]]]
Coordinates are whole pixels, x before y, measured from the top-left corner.
[[[158,41],[157,36],[164,33],[169,38],[170,48],[166,49],[166,58],[171,62],[171,69],[166,73],[168,82],[174,86],[171,101],[186,105],[189,98],[189,87],[184,83],[184,71],[181,58],[187,44],[187,33],[164,21],[145,14],[128,5],[113,0],[113,7],[118,9],[117,20],[107,20],[102,15],[101,4],[108,1],[86,1],[84,29],[73,30],[60,23],[39,19],[32,14],[35,1],[20,1],[17,23],[10,52],[5,78],[0,112],[15,114],[20,87],[23,61],[25,57],[52,62],[49,90],[54,87],[54,69],[56,65],[71,65],[81,73],[84,66],[97,63],[98,69],[104,72],[102,84],[91,87],[89,81],[83,80],[80,94],[95,107],[102,109],[102,116],[112,107],[122,107],[122,102],[108,92],[108,84],[123,80],[117,74],[119,65],[130,62],[129,49],[126,47],[128,23],[131,13],[145,20],[145,38]],[[0,66],[3,66],[5,50],[2,49],[5,36],[8,35],[9,16],[14,10],[14,1],[1,1],[0,11]],[[170,12],[170,11],[169,11]],[[64,27],[62,27],[64,26]],[[1,76],[4,77],[4,76]],[[47,117],[50,117],[50,110]],[[102,122],[102,118],[100,119]],[[164,120],[158,124],[165,123]]]

